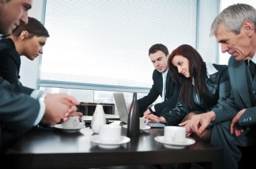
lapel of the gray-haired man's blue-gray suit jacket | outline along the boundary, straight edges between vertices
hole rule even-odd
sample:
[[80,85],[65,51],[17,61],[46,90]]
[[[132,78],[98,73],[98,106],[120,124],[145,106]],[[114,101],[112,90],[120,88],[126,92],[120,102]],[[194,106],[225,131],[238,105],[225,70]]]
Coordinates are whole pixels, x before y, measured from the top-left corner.
[[241,62],[237,66],[237,68],[234,68],[234,80],[236,82],[238,93],[241,96],[241,99],[243,100],[245,105],[247,107],[251,107],[251,97],[247,88],[249,84],[247,82],[245,62]]

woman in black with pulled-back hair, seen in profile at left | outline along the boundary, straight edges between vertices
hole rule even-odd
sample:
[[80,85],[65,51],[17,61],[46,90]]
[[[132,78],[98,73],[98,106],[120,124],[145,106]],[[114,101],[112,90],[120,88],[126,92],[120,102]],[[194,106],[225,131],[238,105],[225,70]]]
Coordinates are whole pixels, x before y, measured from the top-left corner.
[[42,54],[42,48],[49,38],[49,33],[33,17],[28,17],[28,23],[19,25],[7,38],[0,40],[0,76],[11,84],[21,84],[21,56],[34,60]]

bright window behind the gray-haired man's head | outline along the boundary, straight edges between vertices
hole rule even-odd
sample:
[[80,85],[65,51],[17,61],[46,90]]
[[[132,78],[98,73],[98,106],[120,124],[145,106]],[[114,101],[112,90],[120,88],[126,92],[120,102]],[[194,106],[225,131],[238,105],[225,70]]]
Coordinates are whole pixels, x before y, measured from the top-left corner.
[[[247,3],[247,4],[252,5],[253,7],[256,8],[256,1],[251,1],[251,0],[229,0],[229,1],[225,1],[225,0],[222,0],[221,3],[220,3],[220,12],[223,11],[223,9],[225,9],[229,5],[233,5],[235,3]],[[219,44],[219,56],[220,56],[219,57],[219,64],[228,64],[228,59],[230,58],[230,54],[228,54],[228,52],[223,54],[220,44]]]

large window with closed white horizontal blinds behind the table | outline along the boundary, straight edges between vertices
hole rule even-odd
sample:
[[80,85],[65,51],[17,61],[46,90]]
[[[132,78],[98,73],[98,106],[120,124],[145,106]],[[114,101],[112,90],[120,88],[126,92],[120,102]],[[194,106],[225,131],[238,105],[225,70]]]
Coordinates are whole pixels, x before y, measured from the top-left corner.
[[44,25],[41,89],[148,93],[150,46],[196,48],[197,1],[46,0]]

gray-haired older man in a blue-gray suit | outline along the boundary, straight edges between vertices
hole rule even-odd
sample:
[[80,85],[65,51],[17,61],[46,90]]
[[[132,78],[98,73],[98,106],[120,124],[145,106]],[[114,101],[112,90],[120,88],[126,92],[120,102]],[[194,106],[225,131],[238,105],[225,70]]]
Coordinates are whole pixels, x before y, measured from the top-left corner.
[[[238,168],[241,147],[256,145],[256,9],[234,4],[224,9],[212,23],[211,34],[221,44],[228,60],[231,96],[222,113],[204,113],[191,118],[191,129],[200,135],[211,122],[211,144],[223,149],[222,168]],[[230,104],[234,101],[235,105]],[[235,108],[228,109],[232,106]],[[253,158],[255,159],[255,158]]]

